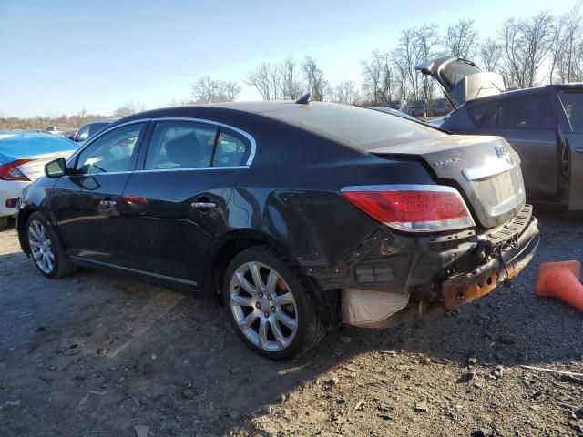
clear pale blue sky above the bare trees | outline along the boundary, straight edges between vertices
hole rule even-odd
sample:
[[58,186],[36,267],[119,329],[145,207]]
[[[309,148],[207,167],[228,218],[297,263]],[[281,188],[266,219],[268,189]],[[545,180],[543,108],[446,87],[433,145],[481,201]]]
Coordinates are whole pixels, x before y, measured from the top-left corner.
[[[436,6],[438,5],[438,6]],[[402,29],[474,19],[495,36],[511,16],[563,14],[574,0],[0,0],[0,117],[109,115],[134,100],[167,107],[198,78],[244,84],[262,62],[315,58],[332,83]]]

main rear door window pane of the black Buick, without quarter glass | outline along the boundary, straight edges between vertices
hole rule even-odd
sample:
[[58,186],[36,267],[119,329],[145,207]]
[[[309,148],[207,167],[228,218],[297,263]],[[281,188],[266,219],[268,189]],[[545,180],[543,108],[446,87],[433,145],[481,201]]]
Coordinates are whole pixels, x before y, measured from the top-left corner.
[[218,128],[193,121],[159,121],[154,127],[145,169],[210,167]]

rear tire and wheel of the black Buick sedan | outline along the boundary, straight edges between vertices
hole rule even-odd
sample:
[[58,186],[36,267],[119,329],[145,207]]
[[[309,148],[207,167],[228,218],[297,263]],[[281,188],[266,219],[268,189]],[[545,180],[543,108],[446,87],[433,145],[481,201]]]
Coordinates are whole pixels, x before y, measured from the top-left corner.
[[325,333],[311,288],[300,269],[259,246],[231,260],[223,299],[240,339],[264,357],[284,360],[308,351]]

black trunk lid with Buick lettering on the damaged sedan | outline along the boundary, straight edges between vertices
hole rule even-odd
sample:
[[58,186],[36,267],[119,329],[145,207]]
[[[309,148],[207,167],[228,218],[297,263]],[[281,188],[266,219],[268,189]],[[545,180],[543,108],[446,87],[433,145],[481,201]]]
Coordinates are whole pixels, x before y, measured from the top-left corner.
[[423,159],[438,183],[460,190],[483,228],[514,219],[525,205],[520,158],[502,137],[452,135],[371,153],[382,158]]

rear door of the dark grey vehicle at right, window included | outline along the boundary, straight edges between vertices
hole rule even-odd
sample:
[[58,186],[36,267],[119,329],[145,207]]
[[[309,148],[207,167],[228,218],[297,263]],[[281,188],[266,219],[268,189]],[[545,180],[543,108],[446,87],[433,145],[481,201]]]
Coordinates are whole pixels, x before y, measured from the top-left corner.
[[462,133],[499,135],[517,151],[527,198],[555,201],[559,188],[557,117],[547,93],[471,102],[468,115],[476,128]]

